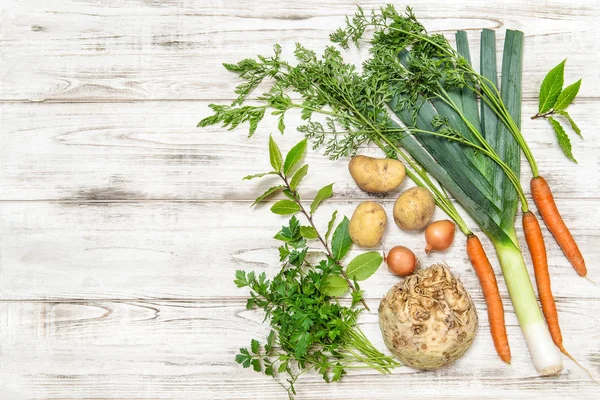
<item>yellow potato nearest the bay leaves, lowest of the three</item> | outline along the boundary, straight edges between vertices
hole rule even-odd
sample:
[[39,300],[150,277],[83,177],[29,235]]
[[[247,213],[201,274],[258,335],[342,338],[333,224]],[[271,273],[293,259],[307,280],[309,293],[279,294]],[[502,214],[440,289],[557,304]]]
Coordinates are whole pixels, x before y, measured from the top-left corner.
[[352,242],[360,247],[375,247],[381,242],[387,225],[385,210],[374,201],[364,201],[356,207],[348,231]]

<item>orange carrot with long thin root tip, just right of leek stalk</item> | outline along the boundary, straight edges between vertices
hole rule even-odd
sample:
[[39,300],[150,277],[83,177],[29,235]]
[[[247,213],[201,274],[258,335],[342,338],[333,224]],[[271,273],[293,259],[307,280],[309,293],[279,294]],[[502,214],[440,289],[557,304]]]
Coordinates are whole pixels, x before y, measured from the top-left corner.
[[592,380],[598,383],[590,371],[577,362],[571,356],[563,345],[562,333],[558,324],[558,312],[556,311],[556,303],[552,295],[552,287],[550,285],[550,273],[548,272],[548,257],[546,256],[546,245],[544,244],[544,236],[540,224],[531,211],[523,214],[523,233],[527,241],[527,247],[531,254],[533,262],[533,273],[535,275],[535,283],[542,303],[542,312],[546,318],[552,341],[560,349],[560,351],[569,357],[575,364],[588,373]]

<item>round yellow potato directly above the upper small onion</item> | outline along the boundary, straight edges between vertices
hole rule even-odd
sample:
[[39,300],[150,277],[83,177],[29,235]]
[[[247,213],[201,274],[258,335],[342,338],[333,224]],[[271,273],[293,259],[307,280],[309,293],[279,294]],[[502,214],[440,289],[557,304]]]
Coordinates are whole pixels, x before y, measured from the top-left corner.
[[435,199],[429,190],[410,188],[394,203],[394,221],[405,231],[416,231],[425,228],[434,210]]

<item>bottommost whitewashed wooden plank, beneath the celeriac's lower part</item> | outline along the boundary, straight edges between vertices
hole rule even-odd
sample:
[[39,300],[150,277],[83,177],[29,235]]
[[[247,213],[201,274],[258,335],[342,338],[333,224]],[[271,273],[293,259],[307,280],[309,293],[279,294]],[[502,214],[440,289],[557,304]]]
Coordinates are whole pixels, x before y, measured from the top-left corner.
[[[594,398],[597,386],[571,361],[552,378],[537,376],[512,310],[507,325],[513,360],[502,363],[479,299],[480,326],[457,363],[432,372],[402,367],[392,375],[351,371],[339,384],[300,378],[299,399]],[[560,299],[565,345],[600,373],[600,300]],[[259,311],[241,300],[201,302],[0,303],[0,392],[10,399],[282,399],[273,379],[234,362],[241,346],[268,333]],[[380,349],[376,312],[361,328]],[[468,384],[467,384],[468,382]]]

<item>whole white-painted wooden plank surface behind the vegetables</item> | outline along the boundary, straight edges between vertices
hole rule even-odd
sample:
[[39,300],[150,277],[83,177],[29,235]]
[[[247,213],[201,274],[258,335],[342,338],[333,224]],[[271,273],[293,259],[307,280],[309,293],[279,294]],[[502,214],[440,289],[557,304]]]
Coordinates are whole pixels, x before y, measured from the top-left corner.
[[[353,3],[2,2],[0,398],[285,397],[275,381],[233,361],[238,347],[267,332],[260,313],[245,310],[245,293],[232,277],[237,268],[277,268],[271,238],[283,220],[266,206],[249,208],[270,182],[240,181],[266,168],[266,138],[276,127],[247,140],[243,129],[195,124],[236,83],[221,62],[269,52],[274,42],[288,55],[295,41],[322,48]],[[473,48],[481,28],[498,29],[499,39],[505,28],[525,31],[525,117],[535,111],[544,73],[562,58],[568,57],[567,81],[584,78],[572,108],[586,137],[573,140],[579,165],[561,155],[546,123],[523,124],[590,277],[600,281],[600,3],[411,4],[431,30],[472,30]],[[289,147],[297,139],[290,133],[279,141]],[[307,160],[306,197],[337,182],[318,215],[321,226],[329,211],[350,215],[369,197],[355,188],[344,162],[318,152]],[[390,209],[394,196],[380,200]],[[599,377],[600,290],[546,238],[565,344]],[[480,330],[463,359],[437,372],[351,373],[341,384],[309,375],[298,397],[598,398],[600,387],[568,360],[559,376],[537,376],[499,273],[513,363],[498,360],[462,240],[423,262],[450,263],[477,304]],[[420,235],[390,226],[381,248],[399,243],[424,245]],[[383,268],[365,282],[372,308],[395,282]],[[367,313],[361,323],[383,349],[376,321]]]

